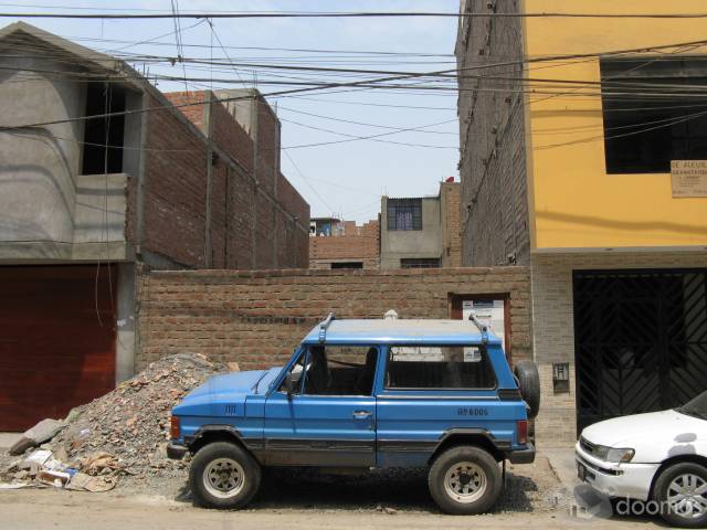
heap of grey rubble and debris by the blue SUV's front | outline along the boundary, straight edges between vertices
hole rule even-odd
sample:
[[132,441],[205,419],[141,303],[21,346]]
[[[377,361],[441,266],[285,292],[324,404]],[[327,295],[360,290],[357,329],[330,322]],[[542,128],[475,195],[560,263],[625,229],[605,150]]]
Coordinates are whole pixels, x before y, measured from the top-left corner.
[[140,480],[182,469],[183,463],[166,455],[172,406],[209,377],[234,368],[193,353],[162,358],[72,410],[59,433],[39,448],[3,459],[0,483],[105,491],[119,477]]

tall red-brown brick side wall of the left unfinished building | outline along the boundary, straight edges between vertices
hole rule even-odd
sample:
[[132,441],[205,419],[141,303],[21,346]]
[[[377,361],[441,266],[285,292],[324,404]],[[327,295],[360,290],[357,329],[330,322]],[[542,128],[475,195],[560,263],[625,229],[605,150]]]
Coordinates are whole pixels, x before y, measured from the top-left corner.
[[[212,99],[209,92],[166,96],[175,105]],[[149,102],[151,107],[159,105],[156,98]],[[309,205],[276,171],[279,126],[274,115],[271,118],[264,126],[270,132],[264,137],[274,144],[267,146],[270,156],[260,155],[267,169],[261,180],[253,177],[253,140],[221,103],[180,107],[179,113],[149,113],[144,251],[194,268],[307,266]],[[211,155],[209,136],[217,146]],[[138,233],[136,187],[131,179],[126,227],[130,241],[136,241]]]

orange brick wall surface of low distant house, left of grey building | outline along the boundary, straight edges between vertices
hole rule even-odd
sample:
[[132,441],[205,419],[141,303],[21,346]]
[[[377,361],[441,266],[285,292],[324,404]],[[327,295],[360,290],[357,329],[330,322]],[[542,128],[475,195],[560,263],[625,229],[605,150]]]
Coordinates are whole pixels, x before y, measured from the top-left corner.
[[378,268],[380,264],[380,230],[377,220],[357,226],[342,221],[340,235],[309,237],[309,267],[331,268],[334,262],[362,262],[363,268]]

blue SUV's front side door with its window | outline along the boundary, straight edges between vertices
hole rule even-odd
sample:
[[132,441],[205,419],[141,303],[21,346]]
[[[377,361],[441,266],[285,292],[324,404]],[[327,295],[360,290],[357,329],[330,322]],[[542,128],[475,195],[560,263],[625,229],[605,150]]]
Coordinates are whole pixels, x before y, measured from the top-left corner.
[[267,465],[376,465],[376,399],[372,382],[378,349],[310,346],[291,367],[286,385],[265,406]]

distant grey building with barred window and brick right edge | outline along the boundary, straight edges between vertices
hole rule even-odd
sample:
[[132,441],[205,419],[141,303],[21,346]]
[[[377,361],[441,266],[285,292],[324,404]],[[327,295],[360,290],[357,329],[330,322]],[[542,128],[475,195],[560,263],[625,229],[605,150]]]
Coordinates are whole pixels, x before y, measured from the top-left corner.
[[460,183],[434,197],[381,199],[381,268],[458,267]]

